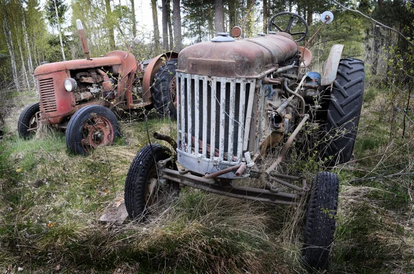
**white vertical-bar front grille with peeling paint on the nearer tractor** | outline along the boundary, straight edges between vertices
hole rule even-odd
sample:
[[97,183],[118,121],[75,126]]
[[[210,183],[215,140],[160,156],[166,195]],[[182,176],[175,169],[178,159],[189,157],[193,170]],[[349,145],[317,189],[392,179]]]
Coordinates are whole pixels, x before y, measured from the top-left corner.
[[248,147],[255,79],[177,72],[177,82],[179,155],[215,164],[242,162]]

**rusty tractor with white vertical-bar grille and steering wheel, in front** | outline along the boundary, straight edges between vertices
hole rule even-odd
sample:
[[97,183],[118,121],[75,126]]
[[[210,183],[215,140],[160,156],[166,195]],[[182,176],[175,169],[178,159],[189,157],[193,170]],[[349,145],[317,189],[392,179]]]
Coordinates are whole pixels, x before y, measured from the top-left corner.
[[[332,20],[331,12],[322,14],[322,26]],[[151,144],[139,151],[126,178],[126,208],[131,218],[143,217],[164,202],[167,193],[177,193],[179,185],[298,208],[308,197],[302,262],[326,268],[338,178],[324,171],[306,182],[305,177],[284,172],[281,163],[293,141],[299,148],[306,137],[305,124],[319,128],[319,159],[326,166],[351,159],[362,108],[364,63],[342,58],[344,46],[335,45],[322,76],[309,72],[308,43],[297,43],[306,37],[306,21],[282,12],[269,25],[268,34],[240,39],[237,27],[233,37],[220,33],[179,52],[177,139],[154,133],[174,150]],[[261,186],[242,184],[252,179]]]

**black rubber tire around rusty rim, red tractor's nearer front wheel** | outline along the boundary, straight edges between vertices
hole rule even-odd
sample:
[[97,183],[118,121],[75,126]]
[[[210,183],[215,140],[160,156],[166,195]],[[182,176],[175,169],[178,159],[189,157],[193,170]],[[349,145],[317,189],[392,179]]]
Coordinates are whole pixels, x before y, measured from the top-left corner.
[[66,146],[74,154],[88,155],[91,150],[88,150],[81,144],[81,140],[85,139],[85,132],[83,126],[95,117],[103,117],[107,119],[112,126],[112,143],[116,136],[119,136],[119,125],[117,117],[109,108],[100,105],[85,106],[70,118],[68,128],[66,128]]

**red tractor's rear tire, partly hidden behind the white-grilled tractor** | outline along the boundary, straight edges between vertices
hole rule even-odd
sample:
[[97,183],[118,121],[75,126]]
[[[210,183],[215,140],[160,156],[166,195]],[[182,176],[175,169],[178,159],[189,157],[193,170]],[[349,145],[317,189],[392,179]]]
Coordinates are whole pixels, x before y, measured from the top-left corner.
[[175,77],[177,59],[168,60],[155,73],[155,82],[152,85],[152,103],[160,115],[168,115],[177,119],[177,108],[171,101],[170,82]]

